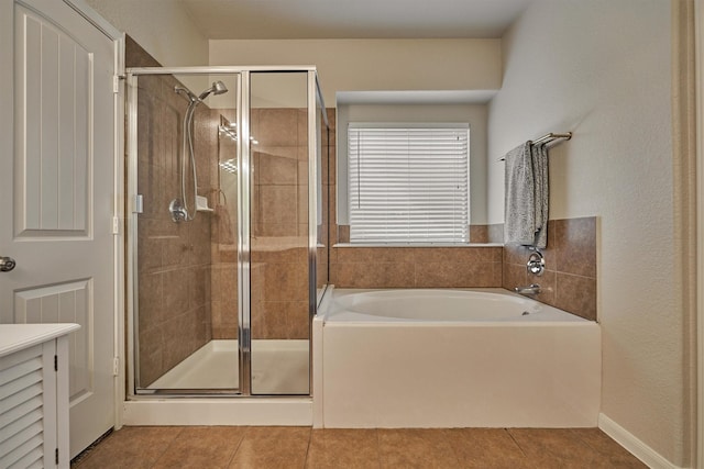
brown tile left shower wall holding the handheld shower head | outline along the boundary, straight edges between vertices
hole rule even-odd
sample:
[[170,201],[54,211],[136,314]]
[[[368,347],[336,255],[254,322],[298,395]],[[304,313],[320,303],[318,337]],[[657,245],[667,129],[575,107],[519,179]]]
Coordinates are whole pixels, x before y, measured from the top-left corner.
[[[128,38],[128,66],[158,65]],[[178,150],[186,101],[168,76],[139,81],[138,297],[140,384],[148,386],[210,339],[210,216],[174,223],[169,201],[179,197]],[[196,113],[197,155],[216,155],[209,111]],[[211,161],[199,159],[199,185],[209,188]]]

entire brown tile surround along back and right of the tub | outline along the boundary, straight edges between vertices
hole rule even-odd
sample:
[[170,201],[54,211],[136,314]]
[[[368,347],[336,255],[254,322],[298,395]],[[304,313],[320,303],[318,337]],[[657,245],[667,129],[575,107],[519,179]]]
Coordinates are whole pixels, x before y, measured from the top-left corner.
[[[503,287],[507,290],[538,283],[543,292],[536,300],[595,321],[596,223],[594,216],[551,220],[548,247],[542,250],[546,272],[540,277],[527,272],[526,263],[531,252],[524,246],[343,246],[330,249],[330,283],[338,288]],[[349,242],[349,226],[332,226],[340,243]],[[501,243],[503,225],[477,225],[474,233]]]

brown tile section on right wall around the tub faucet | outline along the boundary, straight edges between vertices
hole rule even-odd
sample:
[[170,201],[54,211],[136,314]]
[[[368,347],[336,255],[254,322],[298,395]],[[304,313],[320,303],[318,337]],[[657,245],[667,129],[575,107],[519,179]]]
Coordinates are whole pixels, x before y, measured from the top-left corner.
[[542,276],[527,271],[530,253],[524,246],[504,247],[504,288],[538,283],[542,292],[536,300],[596,321],[596,217],[548,223]]

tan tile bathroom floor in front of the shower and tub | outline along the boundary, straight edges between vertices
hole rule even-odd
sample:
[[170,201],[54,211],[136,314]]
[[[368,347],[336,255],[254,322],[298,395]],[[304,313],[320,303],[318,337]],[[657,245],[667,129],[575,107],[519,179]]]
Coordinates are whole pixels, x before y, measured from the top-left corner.
[[124,427],[90,468],[645,468],[598,428]]

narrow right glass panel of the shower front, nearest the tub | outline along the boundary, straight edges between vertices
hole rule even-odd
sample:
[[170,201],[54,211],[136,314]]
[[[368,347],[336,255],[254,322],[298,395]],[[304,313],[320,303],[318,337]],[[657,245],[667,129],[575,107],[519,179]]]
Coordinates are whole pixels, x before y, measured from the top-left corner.
[[308,72],[252,72],[250,97],[252,394],[308,394]]

